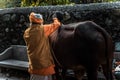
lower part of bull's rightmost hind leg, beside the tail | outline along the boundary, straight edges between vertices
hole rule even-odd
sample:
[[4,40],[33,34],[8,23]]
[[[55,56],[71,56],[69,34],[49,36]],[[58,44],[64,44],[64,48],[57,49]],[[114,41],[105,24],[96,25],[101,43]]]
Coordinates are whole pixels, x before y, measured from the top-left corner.
[[108,66],[107,64],[102,64],[103,73],[106,77],[106,80],[113,80],[113,73],[112,73],[112,64]]

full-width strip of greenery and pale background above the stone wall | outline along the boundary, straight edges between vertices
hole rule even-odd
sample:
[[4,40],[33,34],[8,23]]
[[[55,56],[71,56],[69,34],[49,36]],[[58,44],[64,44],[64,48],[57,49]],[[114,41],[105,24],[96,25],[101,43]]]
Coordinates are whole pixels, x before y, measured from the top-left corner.
[[87,3],[116,2],[120,0],[0,0],[0,8],[34,7],[47,5],[74,5]]

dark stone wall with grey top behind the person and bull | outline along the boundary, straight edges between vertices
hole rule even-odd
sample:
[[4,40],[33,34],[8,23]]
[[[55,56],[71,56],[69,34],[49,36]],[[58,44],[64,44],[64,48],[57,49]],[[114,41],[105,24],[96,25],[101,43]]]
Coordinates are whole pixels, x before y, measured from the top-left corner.
[[29,13],[38,12],[44,23],[51,23],[54,11],[68,13],[64,24],[91,20],[105,28],[114,41],[120,41],[120,3],[97,3],[66,6],[41,6],[0,10],[0,52],[14,44],[25,45],[23,33],[29,25]]

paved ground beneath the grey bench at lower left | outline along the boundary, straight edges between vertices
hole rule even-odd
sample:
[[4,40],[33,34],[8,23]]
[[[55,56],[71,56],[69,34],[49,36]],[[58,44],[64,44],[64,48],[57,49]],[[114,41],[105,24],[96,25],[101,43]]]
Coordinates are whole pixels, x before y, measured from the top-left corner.
[[27,71],[2,69],[0,71],[0,80],[29,80],[29,74]]

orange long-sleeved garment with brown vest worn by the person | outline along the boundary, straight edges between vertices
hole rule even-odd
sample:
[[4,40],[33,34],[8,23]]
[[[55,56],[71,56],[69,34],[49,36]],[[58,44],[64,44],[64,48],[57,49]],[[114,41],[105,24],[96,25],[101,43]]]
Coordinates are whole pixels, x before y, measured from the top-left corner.
[[32,24],[24,32],[29,59],[29,72],[38,75],[54,74],[54,61],[48,36],[60,26],[57,18],[47,25]]

